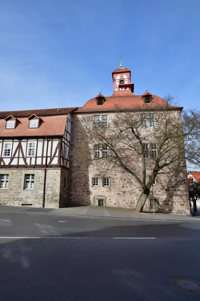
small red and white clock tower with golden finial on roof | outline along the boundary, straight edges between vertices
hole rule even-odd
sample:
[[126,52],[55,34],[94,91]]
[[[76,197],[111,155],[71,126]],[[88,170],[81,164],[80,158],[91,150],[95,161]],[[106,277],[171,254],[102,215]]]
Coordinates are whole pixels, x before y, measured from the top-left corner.
[[112,72],[114,92],[134,92],[134,84],[130,83],[130,70],[120,64],[120,69]]

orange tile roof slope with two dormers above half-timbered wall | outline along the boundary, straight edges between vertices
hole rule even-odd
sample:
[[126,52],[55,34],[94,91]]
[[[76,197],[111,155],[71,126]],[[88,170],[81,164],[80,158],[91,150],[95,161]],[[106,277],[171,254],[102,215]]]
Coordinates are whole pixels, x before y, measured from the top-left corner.
[[67,114],[59,116],[42,116],[38,128],[29,128],[27,117],[17,118],[18,122],[14,129],[5,129],[6,121],[0,119],[0,137],[23,137],[23,136],[59,136],[64,134]]

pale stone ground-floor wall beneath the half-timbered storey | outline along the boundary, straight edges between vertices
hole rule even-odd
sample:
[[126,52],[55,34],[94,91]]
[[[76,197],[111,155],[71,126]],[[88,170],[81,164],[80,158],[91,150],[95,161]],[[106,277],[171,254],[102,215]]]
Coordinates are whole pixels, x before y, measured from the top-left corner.
[[[0,174],[9,175],[7,189],[0,189],[1,205],[42,207],[44,169],[0,169]],[[24,189],[27,174],[34,174],[33,189]],[[46,169],[44,207],[59,208],[66,205],[68,174],[68,170],[61,168]]]

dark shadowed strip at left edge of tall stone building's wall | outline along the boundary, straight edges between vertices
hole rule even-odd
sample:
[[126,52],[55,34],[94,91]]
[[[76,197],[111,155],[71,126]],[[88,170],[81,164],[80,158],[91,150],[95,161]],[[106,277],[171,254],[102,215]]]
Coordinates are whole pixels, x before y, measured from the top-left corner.
[[81,115],[72,114],[68,206],[74,207],[90,205],[88,165],[83,158],[89,147],[79,118]]

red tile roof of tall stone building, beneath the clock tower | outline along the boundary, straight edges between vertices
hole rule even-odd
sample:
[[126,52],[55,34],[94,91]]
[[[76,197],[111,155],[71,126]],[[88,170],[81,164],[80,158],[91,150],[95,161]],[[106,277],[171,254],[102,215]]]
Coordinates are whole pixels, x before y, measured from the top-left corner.
[[[167,103],[159,96],[152,95],[152,101],[149,104],[144,104],[142,95],[134,95],[130,91],[127,92],[114,92],[111,96],[105,97],[103,105],[100,107],[96,105],[96,99],[88,100],[85,105],[77,109],[80,111],[106,111],[115,110],[116,107],[120,109],[146,109],[146,108],[162,108],[166,107]],[[171,108],[182,109],[182,107]]]

